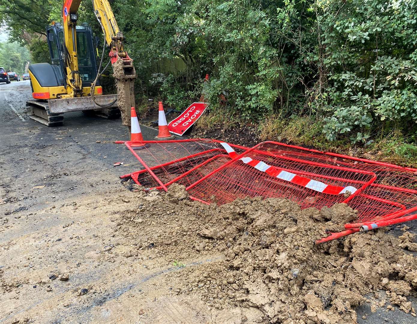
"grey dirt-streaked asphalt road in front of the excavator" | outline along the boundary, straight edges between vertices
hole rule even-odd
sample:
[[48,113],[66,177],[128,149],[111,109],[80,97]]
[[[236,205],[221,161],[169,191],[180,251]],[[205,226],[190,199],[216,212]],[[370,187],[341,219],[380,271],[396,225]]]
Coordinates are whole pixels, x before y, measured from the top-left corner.
[[[7,204],[9,210],[30,212],[94,188],[120,186],[118,176],[135,168],[130,151],[113,143],[129,139],[121,119],[77,111],[64,114],[63,126],[46,127],[25,113],[27,99],[31,99],[29,80],[0,84],[2,190],[18,199],[14,205]],[[141,129],[145,139],[157,134],[147,126]],[[114,162],[124,165],[113,167]],[[138,163],[136,166],[141,169]],[[43,185],[36,192],[28,192],[28,187]]]

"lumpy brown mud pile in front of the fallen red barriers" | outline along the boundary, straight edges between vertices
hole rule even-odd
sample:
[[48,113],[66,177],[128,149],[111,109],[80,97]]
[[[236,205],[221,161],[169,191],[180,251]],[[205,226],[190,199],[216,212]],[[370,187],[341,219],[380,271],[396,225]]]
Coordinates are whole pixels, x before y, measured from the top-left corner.
[[417,250],[411,234],[397,239],[378,229],[314,245],[354,217],[345,204],[301,210],[254,198],[207,206],[173,184],[168,193],[139,190],[130,208],[113,221],[133,255],[152,248],[175,260],[221,256],[165,274],[172,294],[197,295],[214,309],[255,307],[259,322],[270,323],[356,323],[354,308],[364,302],[415,316],[407,296],[417,296],[417,257],[404,250]]

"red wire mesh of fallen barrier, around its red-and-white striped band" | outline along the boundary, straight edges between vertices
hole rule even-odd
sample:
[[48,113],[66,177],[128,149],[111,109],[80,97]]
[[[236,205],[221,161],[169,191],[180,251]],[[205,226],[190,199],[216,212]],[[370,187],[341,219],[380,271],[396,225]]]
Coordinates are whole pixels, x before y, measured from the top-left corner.
[[[274,166],[289,173],[306,177],[312,181],[320,181],[328,185],[366,188],[375,178],[375,175],[367,171],[357,171],[349,168],[324,166],[321,163],[303,163],[292,158],[280,158],[269,153],[250,152],[242,158],[256,158],[270,166]],[[306,188],[286,180],[270,176],[264,171],[244,163],[241,159],[222,168],[194,186],[187,188],[188,192],[197,198],[212,202],[209,198],[215,196],[216,203],[222,204],[244,197],[283,197],[296,201],[302,207],[333,206],[334,203],[347,202],[356,195],[334,195],[322,193]]]

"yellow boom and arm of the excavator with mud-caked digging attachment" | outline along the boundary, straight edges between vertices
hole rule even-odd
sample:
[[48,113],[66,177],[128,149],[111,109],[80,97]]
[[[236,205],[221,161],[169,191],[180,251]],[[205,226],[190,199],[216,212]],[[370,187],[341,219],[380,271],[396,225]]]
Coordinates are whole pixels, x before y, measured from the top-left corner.
[[[63,3],[63,33],[66,54],[65,77],[71,91],[62,98],[75,98],[82,96],[82,82],[78,70],[76,24],[78,20],[78,8],[81,0],[64,0]],[[94,14],[103,30],[106,45],[109,48],[109,56],[113,67],[113,76],[116,80],[118,91],[117,105],[121,111],[122,122],[130,126],[131,107],[135,106],[134,81],[136,71],[133,60],[123,48],[123,33],[118,28],[113,11],[108,0],[93,0]],[[100,71],[99,71],[100,73]],[[94,91],[93,100],[94,100]],[[97,103],[98,104],[98,103]]]

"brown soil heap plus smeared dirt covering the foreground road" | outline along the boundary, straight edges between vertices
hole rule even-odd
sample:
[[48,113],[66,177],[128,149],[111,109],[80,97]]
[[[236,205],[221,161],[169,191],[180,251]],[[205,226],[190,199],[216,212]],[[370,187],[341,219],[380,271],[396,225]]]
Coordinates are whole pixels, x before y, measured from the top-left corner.
[[[398,246],[411,244],[408,234],[395,239],[380,229],[314,246],[333,217],[352,214],[344,204],[300,210],[254,198],[206,206],[176,184],[168,193],[107,196],[28,216],[68,217],[43,244],[39,233],[1,246],[13,261],[0,269],[1,306],[15,306],[11,322],[46,323],[57,309],[62,317],[51,322],[68,312],[81,322],[89,309],[89,321],[107,323],[341,324],[356,322],[361,303],[415,316],[407,296],[416,295],[417,258]],[[73,253],[78,262],[68,264]],[[94,271],[83,284],[87,269]]]

